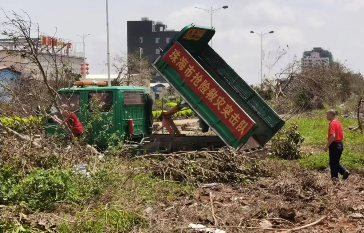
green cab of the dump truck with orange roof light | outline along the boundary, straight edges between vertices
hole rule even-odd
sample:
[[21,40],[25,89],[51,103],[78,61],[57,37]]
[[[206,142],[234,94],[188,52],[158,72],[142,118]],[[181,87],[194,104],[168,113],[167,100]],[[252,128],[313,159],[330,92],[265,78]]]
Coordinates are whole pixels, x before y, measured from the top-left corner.
[[[108,144],[111,135],[122,137],[128,133],[128,120],[133,120],[134,134],[152,134],[153,100],[144,88],[134,86],[74,86],[58,90],[60,103],[67,104],[87,130],[87,141],[98,147]],[[99,106],[92,107],[93,100]],[[63,133],[53,119],[46,122],[48,134]]]

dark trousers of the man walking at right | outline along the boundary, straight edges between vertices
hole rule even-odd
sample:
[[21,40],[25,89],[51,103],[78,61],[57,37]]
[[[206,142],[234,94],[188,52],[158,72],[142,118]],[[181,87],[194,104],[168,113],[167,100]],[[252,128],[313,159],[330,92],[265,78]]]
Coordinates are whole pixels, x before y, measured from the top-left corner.
[[340,164],[341,154],[343,153],[344,145],[342,142],[334,141],[329,145],[329,159],[331,178],[339,178],[338,172],[343,175],[346,171],[345,167]]

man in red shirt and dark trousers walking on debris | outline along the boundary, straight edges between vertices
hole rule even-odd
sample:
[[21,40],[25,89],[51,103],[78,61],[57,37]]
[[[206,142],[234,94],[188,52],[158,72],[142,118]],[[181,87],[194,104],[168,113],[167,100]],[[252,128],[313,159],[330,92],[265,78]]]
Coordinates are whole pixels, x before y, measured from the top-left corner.
[[343,165],[340,164],[341,154],[343,153],[343,127],[341,123],[336,119],[337,111],[328,110],[326,112],[326,118],[330,121],[329,123],[329,133],[327,137],[327,144],[324,151],[329,151],[329,164],[332,179],[338,179],[340,173],[343,179],[348,179],[350,173],[345,169]]

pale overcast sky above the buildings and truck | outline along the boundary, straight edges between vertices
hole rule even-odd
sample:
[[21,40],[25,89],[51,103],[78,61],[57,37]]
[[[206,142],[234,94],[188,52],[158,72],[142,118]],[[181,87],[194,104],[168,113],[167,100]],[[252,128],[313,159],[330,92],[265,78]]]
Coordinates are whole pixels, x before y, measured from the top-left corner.
[[[364,0],[109,0],[110,53],[127,50],[126,21],[162,21],[169,29],[181,30],[187,24],[210,26],[210,15],[194,7],[219,8],[213,15],[216,34],[213,48],[249,84],[258,82],[260,38],[250,31],[268,32],[263,50],[276,51],[292,46],[290,57],[301,58],[304,50],[323,47],[334,59],[347,60],[354,71],[364,70]],[[40,30],[56,37],[82,42],[86,38],[86,57],[91,74],[106,74],[106,4],[104,0],[3,0],[5,11],[28,12]],[[1,22],[4,16],[1,12]],[[279,71],[288,63],[288,55],[274,67]],[[268,73],[263,68],[263,74]],[[273,72],[274,73],[274,72]]]

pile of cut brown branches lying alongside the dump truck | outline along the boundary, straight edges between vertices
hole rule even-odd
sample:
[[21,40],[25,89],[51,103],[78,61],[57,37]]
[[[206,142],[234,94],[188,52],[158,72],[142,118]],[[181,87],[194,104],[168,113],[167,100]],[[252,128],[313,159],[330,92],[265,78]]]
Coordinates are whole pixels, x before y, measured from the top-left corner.
[[164,180],[198,183],[238,183],[268,177],[261,161],[225,147],[218,151],[175,152],[150,160],[148,168]]

